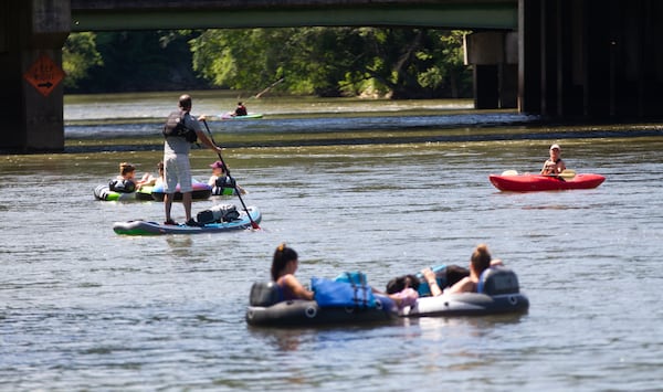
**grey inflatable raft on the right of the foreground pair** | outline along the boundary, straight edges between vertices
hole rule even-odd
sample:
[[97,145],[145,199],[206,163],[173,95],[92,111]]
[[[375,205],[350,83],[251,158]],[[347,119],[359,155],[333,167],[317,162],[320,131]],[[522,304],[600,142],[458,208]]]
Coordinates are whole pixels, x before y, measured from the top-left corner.
[[402,317],[487,316],[523,314],[529,299],[520,293],[518,277],[505,267],[491,267],[481,275],[477,293],[420,297],[413,306],[399,309]]

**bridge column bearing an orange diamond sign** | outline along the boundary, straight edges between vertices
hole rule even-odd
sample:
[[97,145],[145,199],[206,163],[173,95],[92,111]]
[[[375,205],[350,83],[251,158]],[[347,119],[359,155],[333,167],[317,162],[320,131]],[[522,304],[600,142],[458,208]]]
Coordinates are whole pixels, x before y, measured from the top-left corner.
[[70,0],[2,1],[0,14],[8,15],[0,18],[4,113],[0,150],[61,151],[64,121],[59,82],[62,46],[71,28]]

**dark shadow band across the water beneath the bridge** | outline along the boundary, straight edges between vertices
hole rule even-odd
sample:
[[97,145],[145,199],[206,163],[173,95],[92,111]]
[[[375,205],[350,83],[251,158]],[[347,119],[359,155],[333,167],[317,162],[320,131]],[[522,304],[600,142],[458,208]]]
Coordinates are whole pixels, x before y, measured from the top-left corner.
[[[208,120],[227,148],[371,144],[473,142],[663,136],[659,123],[545,121],[517,113],[444,116],[354,116]],[[65,127],[65,152],[149,151],[162,148],[160,121],[99,121]]]

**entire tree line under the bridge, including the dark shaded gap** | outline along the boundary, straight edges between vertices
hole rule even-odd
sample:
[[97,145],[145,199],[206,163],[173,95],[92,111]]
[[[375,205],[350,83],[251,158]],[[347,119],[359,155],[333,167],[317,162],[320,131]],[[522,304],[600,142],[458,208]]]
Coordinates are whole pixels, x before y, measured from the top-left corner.
[[[282,28],[72,34],[78,92],[272,89],[318,96],[464,97],[462,31]],[[67,74],[70,71],[67,71]]]

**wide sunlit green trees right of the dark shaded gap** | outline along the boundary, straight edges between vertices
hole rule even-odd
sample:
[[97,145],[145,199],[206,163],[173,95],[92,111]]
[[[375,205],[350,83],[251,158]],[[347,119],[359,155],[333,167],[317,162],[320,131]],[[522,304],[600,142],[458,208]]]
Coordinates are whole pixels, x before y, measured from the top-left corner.
[[190,41],[214,86],[294,94],[460,97],[471,93],[461,31],[383,28],[208,30]]

